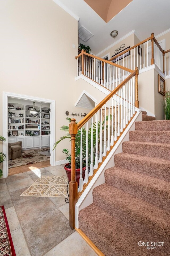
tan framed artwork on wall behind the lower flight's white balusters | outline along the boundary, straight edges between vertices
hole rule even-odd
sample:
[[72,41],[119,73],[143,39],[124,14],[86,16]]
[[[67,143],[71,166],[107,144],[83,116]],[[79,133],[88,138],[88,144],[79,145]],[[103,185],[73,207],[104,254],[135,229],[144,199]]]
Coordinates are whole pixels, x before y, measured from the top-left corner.
[[[117,113],[117,127],[118,127],[118,106],[116,107]],[[102,122],[104,121],[104,108],[101,110]],[[109,108],[106,108],[106,116],[108,116]],[[110,115],[112,115],[112,107],[110,107]],[[111,117],[112,118],[112,117]],[[120,122],[121,122],[121,106],[120,106]],[[106,125],[108,125],[108,121],[106,121]],[[115,106],[113,107],[113,133],[115,131]],[[112,119],[110,119],[110,140],[112,135]],[[104,140],[104,130],[102,131],[102,140]],[[106,130],[106,140],[108,140],[108,129]]]

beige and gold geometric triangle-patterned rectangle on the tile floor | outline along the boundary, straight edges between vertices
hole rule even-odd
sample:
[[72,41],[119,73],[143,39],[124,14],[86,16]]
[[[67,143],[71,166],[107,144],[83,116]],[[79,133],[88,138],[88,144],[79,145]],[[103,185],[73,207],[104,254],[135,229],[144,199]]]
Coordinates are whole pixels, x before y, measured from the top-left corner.
[[67,176],[41,176],[21,196],[67,197]]

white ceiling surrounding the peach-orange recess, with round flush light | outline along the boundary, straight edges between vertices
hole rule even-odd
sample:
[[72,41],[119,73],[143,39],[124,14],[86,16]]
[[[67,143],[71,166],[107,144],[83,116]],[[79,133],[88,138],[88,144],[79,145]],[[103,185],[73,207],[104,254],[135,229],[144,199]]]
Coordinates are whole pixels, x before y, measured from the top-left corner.
[[[53,1],[59,2],[59,0]],[[143,40],[152,32],[158,35],[170,28],[169,0],[133,0],[108,23],[83,0],[60,0],[60,2],[79,17],[78,27],[84,26],[94,35],[86,43],[79,40],[79,43],[89,45],[94,54],[98,54],[132,30],[135,30],[139,39]],[[109,0],[103,2],[106,4]],[[117,4],[120,2],[117,1]],[[112,30],[118,30],[116,38],[110,36]]]

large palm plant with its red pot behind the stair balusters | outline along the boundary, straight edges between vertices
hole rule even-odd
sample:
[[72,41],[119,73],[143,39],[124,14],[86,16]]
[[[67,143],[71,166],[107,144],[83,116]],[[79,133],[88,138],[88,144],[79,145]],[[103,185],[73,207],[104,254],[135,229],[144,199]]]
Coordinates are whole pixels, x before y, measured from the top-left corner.
[[[110,119],[111,119],[111,115],[110,115]],[[70,117],[66,117],[66,120],[70,123],[71,122],[71,118]],[[106,121],[108,121],[108,116],[106,116]],[[99,138],[100,138],[100,121],[98,121],[98,143],[99,143]],[[69,126],[63,125],[61,128],[61,131],[65,131],[66,135],[64,135],[63,137],[61,137],[53,146],[53,150],[54,148],[56,148],[56,146],[58,145],[58,143],[64,139],[70,139],[71,141],[71,135],[69,134]],[[106,125],[106,129],[108,129],[108,125]],[[102,122],[102,130],[104,130],[104,121]],[[78,183],[79,186],[79,179],[80,179],[80,140],[81,140],[81,134],[80,134],[80,130],[78,130],[77,135],[75,136],[75,168],[76,168],[76,181]],[[95,159],[95,148],[96,148],[96,123],[93,124],[93,159]],[[68,149],[63,149],[62,151],[64,153],[64,155],[66,156],[66,160],[69,162],[68,164],[66,164],[64,166],[64,169],[66,171],[67,174],[67,178],[70,182],[71,180],[71,153],[69,153]],[[85,176],[85,170],[86,170],[86,129],[84,127],[82,127],[82,159],[83,159],[83,179]],[[91,127],[88,130],[88,165],[90,165],[91,162]]]

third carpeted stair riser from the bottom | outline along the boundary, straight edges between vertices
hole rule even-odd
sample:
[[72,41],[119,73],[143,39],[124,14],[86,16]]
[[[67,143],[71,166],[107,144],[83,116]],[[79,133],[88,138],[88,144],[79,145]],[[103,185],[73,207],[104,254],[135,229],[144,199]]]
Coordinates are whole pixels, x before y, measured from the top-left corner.
[[105,182],[135,197],[142,198],[157,207],[170,211],[170,191],[168,189],[158,189],[152,184],[145,185],[142,181],[124,178],[114,172],[112,176],[107,175],[107,172],[105,172]]

